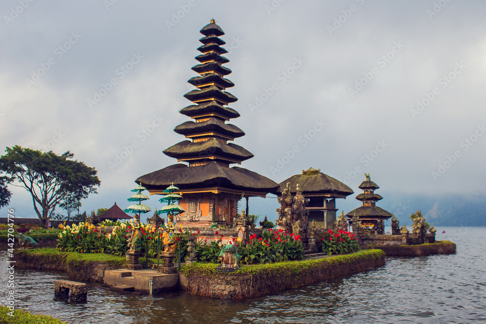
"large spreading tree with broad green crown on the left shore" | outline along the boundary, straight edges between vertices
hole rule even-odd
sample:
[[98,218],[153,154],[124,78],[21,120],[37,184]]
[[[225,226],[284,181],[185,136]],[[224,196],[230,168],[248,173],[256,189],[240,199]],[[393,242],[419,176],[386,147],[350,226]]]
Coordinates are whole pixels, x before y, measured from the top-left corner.
[[0,171],[8,183],[30,192],[35,212],[45,225],[54,208],[68,194],[87,198],[100,186],[97,171],[83,162],[73,160],[69,151],[57,155],[20,146],[5,149],[0,157]]

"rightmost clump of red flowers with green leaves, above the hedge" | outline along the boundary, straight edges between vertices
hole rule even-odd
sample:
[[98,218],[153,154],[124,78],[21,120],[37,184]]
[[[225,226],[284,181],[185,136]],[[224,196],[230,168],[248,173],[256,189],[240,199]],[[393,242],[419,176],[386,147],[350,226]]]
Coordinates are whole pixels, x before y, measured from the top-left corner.
[[351,232],[346,232],[341,229],[338,231],[329,230],[317,248],[327,255],[331,254],[346,254],[356,252],[360,249],[358,239]]

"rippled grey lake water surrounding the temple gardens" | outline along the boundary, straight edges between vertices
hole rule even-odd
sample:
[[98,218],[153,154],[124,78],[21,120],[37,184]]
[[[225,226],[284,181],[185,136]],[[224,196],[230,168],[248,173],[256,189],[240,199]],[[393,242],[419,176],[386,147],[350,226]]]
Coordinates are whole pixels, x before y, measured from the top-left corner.
[[[486,323],[486,228],[442,227],[436,238],[455,242],[457,254],[388,257],[381,268],[244,301],[123,295],[89,283],[87,303],[69,304],[54,298],[54,280],[66,274],[16,270],[16,308],[68,323]],[[5,260],[2,252],[1,305]]]

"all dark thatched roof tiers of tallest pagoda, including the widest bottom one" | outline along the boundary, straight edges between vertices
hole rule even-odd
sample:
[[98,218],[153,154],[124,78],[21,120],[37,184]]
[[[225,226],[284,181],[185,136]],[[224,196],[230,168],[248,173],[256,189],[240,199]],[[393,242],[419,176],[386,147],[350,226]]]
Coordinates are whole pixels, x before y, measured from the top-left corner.
[[189,167],[185,164],[171,165],[145,174],[136,182],[149,190],[165,189],[174,183],[181,190],[218,187],[264,195],[277,188],[278,184],[243,168],[229,168],[230,164],[240,164],[253,157],[253,154],[239,145],[227,143],[228,140],[244,136],[244,132],[235,125],[226,124],[226,121],[238,118],[240,114],[226,106],[238,99],[225,91],[234,86],[224,78],[231,70],[221,66],[229,62],[221,56],[227,52],[220,47],[225,41],[218,38],[225,33],[211,20],[201,29],[201,34],[205,36],[199,40],[203,43],[198,48],[202,54],[196,56],[201,64],[192,68],[200,75],[188,81],[196,89],[184,95],[194,104],[180,110],[181,114],[195,121],[186,121],[174,129],[191,140],[177,143],[164,151],[178,161],[188,162]]

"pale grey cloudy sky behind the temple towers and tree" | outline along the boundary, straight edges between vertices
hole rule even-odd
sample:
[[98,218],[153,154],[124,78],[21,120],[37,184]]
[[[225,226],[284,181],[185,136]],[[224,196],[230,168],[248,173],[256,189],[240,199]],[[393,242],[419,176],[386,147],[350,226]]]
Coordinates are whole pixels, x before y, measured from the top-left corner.
[[313,167],[356,193],[370,172],[383,196],[484,195],[485,12],[480,0],[2,0],[0,146],[69,150],[102,182],[82,210],[125,207],[138,176],[176,163],[162,151],[184,139],[173,129],[214,18],[246,133],[235,143],[255,155],[243,168],[281,182]]

